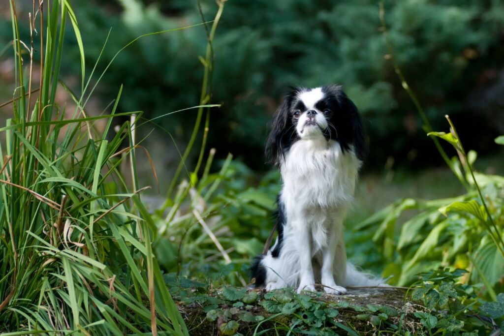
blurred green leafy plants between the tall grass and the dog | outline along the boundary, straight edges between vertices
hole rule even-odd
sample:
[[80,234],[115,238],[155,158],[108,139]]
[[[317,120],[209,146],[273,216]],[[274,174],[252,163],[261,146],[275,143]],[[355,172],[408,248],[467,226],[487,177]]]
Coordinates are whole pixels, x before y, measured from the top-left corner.
[[[169,226],[166,212],[151,215],[162,233],[155,249],[163,268],[219,284],[243,285],[240,277],[248,281],[249,260],[262,251],[270,233],[278,180],[278,173],[271,172],[257,182],[253,171],[229,157],[219,171],[204,174],[194,186],[183,182],[173,202],[182,204],[178,199],[184,194],[182,190],[187,187],[190,191]],[[217,250],[201,222],[229,251],[231,263]]]

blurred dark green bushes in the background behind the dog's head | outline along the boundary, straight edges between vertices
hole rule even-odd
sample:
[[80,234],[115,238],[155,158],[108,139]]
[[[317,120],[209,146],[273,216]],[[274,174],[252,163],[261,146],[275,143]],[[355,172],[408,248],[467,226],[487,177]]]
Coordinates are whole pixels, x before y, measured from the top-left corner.
[[[31,6],[19,1],[18,12]],[[195,0],[90,0],[74,6],[87,64],[94,64],[111,28],[98,70],[139,35],[201,22]],[[211,20],[215,3],[205,0],[201,7]],[[4,46],[12,33],[7,2],[0,8]],[[504,133],[504,5],[498,0],[407,0],[387,2],[386,12],[396,59],[433,128],[443,127],[444,115],[450,114],[467,148],[480,156],[495,154],[493,139]],[[75,37],[67,38],[62,71],[67,84],[75,86],[79,53]],[[121,84],[119,110],[143,110],[153,118],[196,105],[203,72],[198,56],[205,43],[202,26],[139,40],[115,59],[89,113],[105,109]],[[287,87],[340,83],[365,119],[371,147],[366,169],[417,169],[441,162],[431,154],[432,142],[387,60],[376,1],[232,0],[213,47],[212,101],[223,104],[212,111],[210,123],[209,144],[217,158],[231,152],[254,170],[267,170],[267,123]],[[0,95],[6,99],[12,94],[12,66],[3,57]],[[190,110],[157,121],[183,148],[195,116]],[[148,141],[157,144],[149,148],[159,158],[157,169],[170,171],[178,161],[170,138],[155,132]]]

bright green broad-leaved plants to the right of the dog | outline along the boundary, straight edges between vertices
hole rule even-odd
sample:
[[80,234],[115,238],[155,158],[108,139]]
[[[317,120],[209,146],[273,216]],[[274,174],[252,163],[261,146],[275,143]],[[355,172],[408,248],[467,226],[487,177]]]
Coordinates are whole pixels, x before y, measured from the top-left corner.
[[[447,137],[438,132],[436,136]],[[415,274],[439,265],[473,268],[466,282],[484,283],[493,297],[493,288],[501,289],[501,270],[504,269],[502,249],[502,193],[504,178],[474,172],[474,152],[466,155],[458,137],[452,143],[463,160],[452,159],[456,172],[469,185],[466,194],[446,199],[403,199],[376,213],[357,226],[357,229],[378,229],[373,241],[383,246],[384,255],[394,258],[385,270],[393,276],[393,284],[407,285]],[[482,197],[482,195],[485,195]],[[406,210],[417,214],[397,230],[396,221]],[[443,216],[441,216],[443,215]],[[500,270],[500,271],[499,271]]]

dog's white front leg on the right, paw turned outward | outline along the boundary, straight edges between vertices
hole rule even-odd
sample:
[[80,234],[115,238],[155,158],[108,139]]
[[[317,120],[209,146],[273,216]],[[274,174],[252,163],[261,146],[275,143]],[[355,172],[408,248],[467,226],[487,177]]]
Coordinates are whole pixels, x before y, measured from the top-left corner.
[[[340,251],[341,246],[341,235],[343,235],[343,224],[338,220],[335,225],[329,231],[329,244],[326,248],[323,249],[322,255],[322,285],[324,287],[324,291],[328,294],[345,294],[346,289],[344,287],[336,285],[334,281],[334,266],[336,258],[344,258],[343,264],[346,265],[346,252],[343,250]],[[344,246],[343,246],[344,247]],[[337,255],[337,254],[345,254],[345,255]],[[338,264],[340,264],[338,262]],[[341,270],[337,270],[341,272]]]

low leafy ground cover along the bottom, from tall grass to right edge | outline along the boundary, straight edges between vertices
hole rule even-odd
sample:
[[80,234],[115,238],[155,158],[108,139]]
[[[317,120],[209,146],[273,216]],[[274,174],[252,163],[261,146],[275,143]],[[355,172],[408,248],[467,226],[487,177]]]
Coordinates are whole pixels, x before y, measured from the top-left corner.
[[[421,274],[406,295],[412,301],[405,300],[398,309],[389,304],[366,304],[362,298],[296,294],[289,288],[264,293],[229,286],[182,288],[170,282],[170,290],[188,309],[196,303],[201,306],[205,318],[223,333],[261,334],[273,329],[293,334],[356,335],[372,331],[469,335],[498,330],[504,318],[504,294],[495,302],[479,300],[477,287],[458,281],[466,274],[448,268]],[[177,279],[179,284],[186,283],[183,278]],[[258,302],[245,302],[249,295],[257,297]]]

